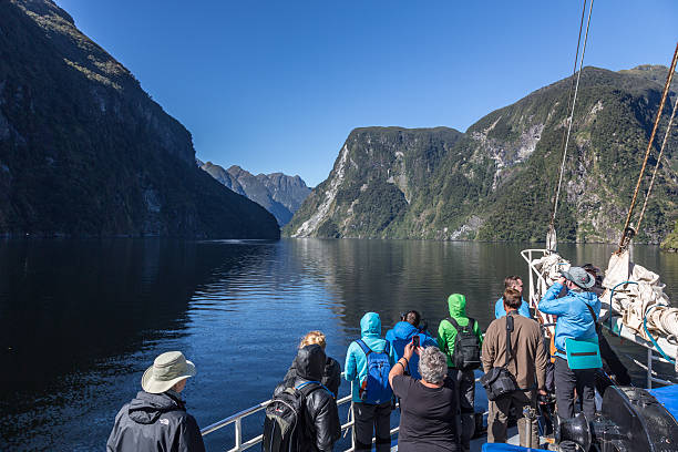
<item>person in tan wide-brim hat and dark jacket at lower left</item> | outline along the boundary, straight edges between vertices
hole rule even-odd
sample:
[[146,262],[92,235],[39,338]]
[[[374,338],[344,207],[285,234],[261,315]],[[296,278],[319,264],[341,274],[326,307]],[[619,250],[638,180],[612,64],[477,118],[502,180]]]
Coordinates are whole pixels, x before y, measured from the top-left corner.
[[115,417],[106,451],[205,451],[201,429],[179,396],[195,373],[181,351],[155,358],[142,377],[143,391]]

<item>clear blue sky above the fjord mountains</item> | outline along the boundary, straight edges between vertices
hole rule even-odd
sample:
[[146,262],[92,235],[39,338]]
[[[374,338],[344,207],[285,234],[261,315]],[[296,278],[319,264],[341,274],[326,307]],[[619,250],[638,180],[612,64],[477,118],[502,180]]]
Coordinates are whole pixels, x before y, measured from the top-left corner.
[[[582,1],[56,0],[193,134],[254,174],[329,174],[355,127],[450,126],[572,74]],[[597,0],[585,65],[670,64],[677,0]]]

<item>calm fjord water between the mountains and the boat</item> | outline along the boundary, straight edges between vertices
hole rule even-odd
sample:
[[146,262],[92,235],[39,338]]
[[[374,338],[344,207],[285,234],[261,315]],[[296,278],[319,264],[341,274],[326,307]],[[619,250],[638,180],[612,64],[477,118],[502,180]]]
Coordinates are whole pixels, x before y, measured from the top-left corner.
[[[397,240],[0,242],[0,450],[103,450],[153,358],[183,350],[203,427],[269,397],[299,338],[321,329],[343,362],[368,310],[419,309],[430,329],[462,292],[485,328],[521,245]],[[612,246],[562,246],[605,267]],[[678,298],[678,255],[636,247]],[[386,331],[386,328],[384,328]],[[340,393],[347,393],[343,383]],[[479,402],[479,404],[481,404]],[[343,414],[342,414],[343,415]],[[245,424],[251,434],[260,419]],[[233,444],[233,428],[206,438]]]

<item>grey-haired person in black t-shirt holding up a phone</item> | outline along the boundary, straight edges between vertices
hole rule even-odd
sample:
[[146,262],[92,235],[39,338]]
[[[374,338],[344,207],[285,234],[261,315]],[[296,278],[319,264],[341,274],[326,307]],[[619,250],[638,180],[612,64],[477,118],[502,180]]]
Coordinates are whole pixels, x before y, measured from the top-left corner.
[[[405,376],[419,356],[420,380]],[[400,398],[399,452],[456,452],[459,411],[454,383],[446,379],[448,361],[438,347],[404,346],[402,357],[389,373],[393,393]]]

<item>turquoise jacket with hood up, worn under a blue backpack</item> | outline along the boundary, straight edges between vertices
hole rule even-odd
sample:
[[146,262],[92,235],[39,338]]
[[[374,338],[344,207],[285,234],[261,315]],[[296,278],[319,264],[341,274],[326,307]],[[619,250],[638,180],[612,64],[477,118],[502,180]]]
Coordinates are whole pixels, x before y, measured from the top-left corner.
[[[360,319],[360,335],[364,343],[377,352],[382,352],[386,347],[386,339],[381,339],[381,319],[377,312],[368,312]],[[391,366],[396,363],[393,347],[390,347],[389,358]],[[351,382],[351,393],[353,402],[360,400],[360,383],[367,378],[367,357],[356,341],[351,342],[346,352],[346,380]]]

